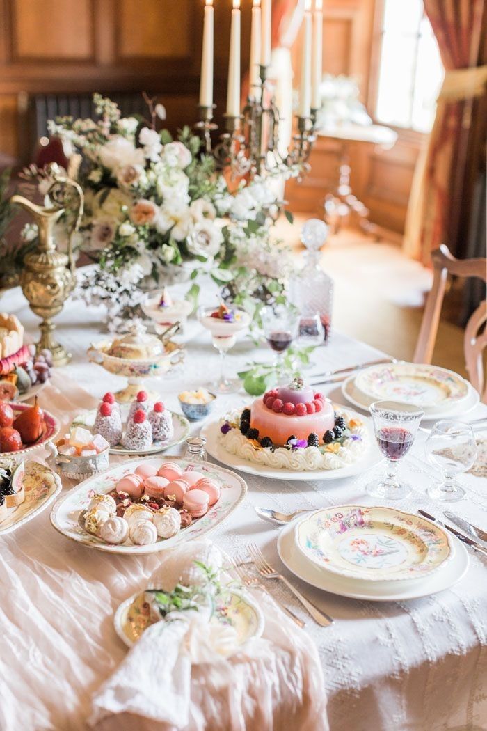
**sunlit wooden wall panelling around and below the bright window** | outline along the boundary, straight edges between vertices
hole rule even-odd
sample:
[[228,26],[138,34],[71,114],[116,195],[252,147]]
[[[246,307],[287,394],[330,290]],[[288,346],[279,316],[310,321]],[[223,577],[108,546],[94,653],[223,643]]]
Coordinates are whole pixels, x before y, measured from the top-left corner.
[[[374,115],[380,49],[380,0],[323,2],[323,70],[353,76],[361,101]],[[299,44],[294,48],[295,78],[299,78]],[[422,136],[399,131],[391,150],[350,145],[353,192],[370,211],[370,219],[388,230],[404,232],[407,201]],[[326,194],[337,184],[340,143],[321,137],[310,157],[311,172],[302,183],[289,183],[291,210],[322,215]]]

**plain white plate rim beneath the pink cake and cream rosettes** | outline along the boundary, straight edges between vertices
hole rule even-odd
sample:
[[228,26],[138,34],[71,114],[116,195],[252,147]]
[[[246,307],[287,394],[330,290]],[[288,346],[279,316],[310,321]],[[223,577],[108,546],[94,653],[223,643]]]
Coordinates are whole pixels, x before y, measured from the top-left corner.
[[[357,414],[358,415],[358,414]],[[369,448],[366,454],[345,467],[339,469],[317,469],[294,471],[292,469],[269,467],[256,462],[250,462],[238,455],[227,452],[222,446],[220,435],[220,419],[207,423],[202,428],[202,436],[207,440],[206,450],[209,455],[214,457],[218,462],[239,469],[247,474],[256,475],[256,477],[269,477],[269,480],[340,480],[344,477],[353,477],[355,474],[361,474],[383,460],[377,443],[375,441],[374,431],[369,419],[360,417],[367,429],[367,437]]]

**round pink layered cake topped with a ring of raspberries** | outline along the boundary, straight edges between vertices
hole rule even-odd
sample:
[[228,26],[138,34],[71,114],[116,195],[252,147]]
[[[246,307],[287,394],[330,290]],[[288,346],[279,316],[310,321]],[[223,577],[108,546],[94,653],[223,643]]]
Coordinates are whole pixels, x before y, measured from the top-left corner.
[[307,440],[310,434],[318,435],[318,444],[323,444],[323,434],[333,428],[333,406],[301,379],[264,393],[250,409],[250,429],[256,429],[260,439],[269,437],[277,447],[290,437]]

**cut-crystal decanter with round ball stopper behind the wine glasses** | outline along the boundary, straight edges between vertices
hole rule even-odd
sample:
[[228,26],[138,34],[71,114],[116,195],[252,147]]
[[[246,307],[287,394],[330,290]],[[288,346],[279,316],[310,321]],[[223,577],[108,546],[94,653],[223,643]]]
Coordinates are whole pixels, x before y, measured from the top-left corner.
[[334,287],[333,279],[320,265],[320,249],[327,235],[326,223],[320,219],[306,221],[301,230],[301,240],[307,249],[304,255],[304,267],[291,276],[289,281],[289,300],[301,311],[300,338],[307,340],[315,335],[318,314],[323,326],[325,343],[329,341],[331,333]]

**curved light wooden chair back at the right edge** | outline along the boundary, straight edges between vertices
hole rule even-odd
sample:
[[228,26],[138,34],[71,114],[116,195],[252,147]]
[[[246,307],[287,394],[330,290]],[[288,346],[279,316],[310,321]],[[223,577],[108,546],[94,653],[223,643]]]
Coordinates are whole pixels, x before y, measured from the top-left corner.
[[[448,274],[460,277],[478,277],[487,283],[487,259],[456,259],[450,254],[448,246],[442,244],[433,251],[433,286],[426,300],[423,322],[416,345],[414,362],[431,363],[434,343],[445,296]],[[464,334],[464,355],[470,382],[487,403],[487,382],[483,373],[483,350],[487,347],[487,300],[480,303],[467,322]]]

